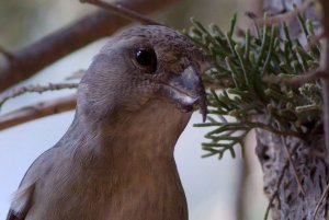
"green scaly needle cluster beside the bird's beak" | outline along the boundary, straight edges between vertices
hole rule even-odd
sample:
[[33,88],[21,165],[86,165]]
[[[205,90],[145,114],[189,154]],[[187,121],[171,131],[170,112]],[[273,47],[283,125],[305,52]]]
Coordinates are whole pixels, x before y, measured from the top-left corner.
[[236,21],[234,15],[230,28],[223,32],[215,24],[206,28],[192,19],[193,26],[185,32],[212,66],[205,72],[205,83],[216,88],[208,90],[206,123],[195,125],[213,128],[205,136],[208,142],[203,143],[205,157],[222,158],[227,151],[235,157],[234,147],[243,150],[243,139],[253,128],[303,140],[322,132],[320,82],[294,85],[273,80],[319,67],[320,47],[314,40],[314,23],[298,15],[302,37],[292,38],[285,23],[256,25],[256,34],[247,30],[237,36]]

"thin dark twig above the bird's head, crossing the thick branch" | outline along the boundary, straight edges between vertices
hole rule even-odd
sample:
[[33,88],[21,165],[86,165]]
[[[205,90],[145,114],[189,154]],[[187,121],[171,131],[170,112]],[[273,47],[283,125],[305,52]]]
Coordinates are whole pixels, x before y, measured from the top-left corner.
[[159,22],[148,19],[147,16],[143,16],[141,14],[136,13],[135,11],[123,8],[120,4],[112,4],[112,3],[100,1],[100,0],[80,0],[80,2],[82,2],[82,3],[88,2],[91,4],[98,5],[100,8],[106,9],[106,10],[109,10],[122,18],[131,20],[133,22],[137,21],[137,22],[140,22],[143,24],[148,24],[148,25],[163,25]]

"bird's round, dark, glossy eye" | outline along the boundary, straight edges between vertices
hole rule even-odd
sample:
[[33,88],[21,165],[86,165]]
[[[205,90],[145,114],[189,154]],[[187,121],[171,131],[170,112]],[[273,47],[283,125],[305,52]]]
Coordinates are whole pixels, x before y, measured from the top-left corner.
[[135,60],[138,66],[148,73],[157,70],[157,56],[152,49],[137,49],[135,53]]

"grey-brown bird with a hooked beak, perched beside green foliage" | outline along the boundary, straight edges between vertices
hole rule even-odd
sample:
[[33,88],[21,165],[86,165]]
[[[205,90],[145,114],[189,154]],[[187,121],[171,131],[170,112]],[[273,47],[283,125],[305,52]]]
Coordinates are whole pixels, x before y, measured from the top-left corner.
[[73,120],[13,194],[7,220],[188,220],[174,146],[206,117],[203,53],[161,25],[129,27],[93,58]]

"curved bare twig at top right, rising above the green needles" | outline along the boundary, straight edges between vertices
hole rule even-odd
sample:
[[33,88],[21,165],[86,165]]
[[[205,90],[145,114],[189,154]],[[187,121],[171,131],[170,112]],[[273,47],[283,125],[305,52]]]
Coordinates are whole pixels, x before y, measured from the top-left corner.
[[296,18],[298,15],[298,13],[303,13],[309,7],[309,4],[311,4],[313,2],[314,2],[314,0],[306,0],[298,9],[296,8],[294,11],[282,13],[282,14],[275,15],[275,16],[269,16],[266,19],[263,19],[263,18],[256,19],[256,22],[258,25],[265,24],[266,26],[282,23],[290,19]]

